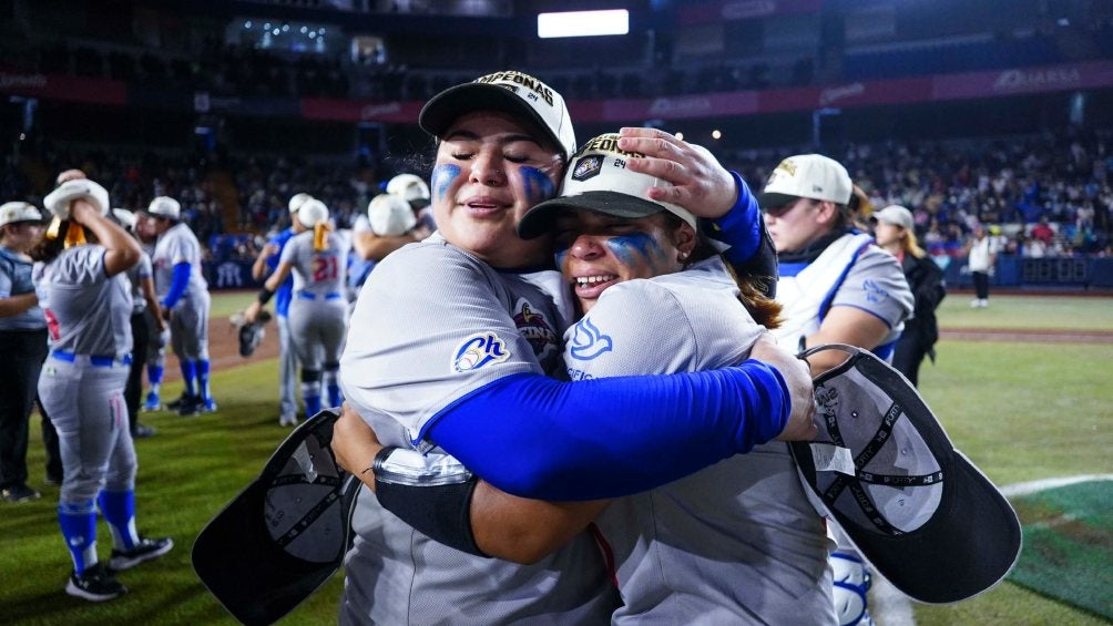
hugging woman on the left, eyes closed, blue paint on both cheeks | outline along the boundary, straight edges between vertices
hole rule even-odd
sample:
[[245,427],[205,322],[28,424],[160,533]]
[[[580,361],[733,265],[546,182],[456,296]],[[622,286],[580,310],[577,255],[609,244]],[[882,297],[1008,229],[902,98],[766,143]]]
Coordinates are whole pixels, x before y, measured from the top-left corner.
[[[563,100],[533,77],[498,72],[434,97],[420,122],[440,140],[431,186],[439,235],[393,252],[372,272],[342,367],[345,396],[385,443],[443,448],[465,464],[536,458],[554,470],[548,483],[556,489],[637,491],[688,474],[681,466],[689,463],[702,467],[776,436],[789,414],[786,377],[804,379],[806,389],[794,397],[809,398],[802,372],[782,376],[757,362],[573,385],[546,378],[563,369],[560,335],[572,307],[560,276],[546,271],[549,241],[523,240],[515,228],[554,195],[574,151]],[[726,170],[708,173],[678,148],[667,148],[673,162],[657,167],[692,181],[688,195],[699,187],[695,203],[726,212],[738,197],[735,180]],[[598,418],[598,428],[570,428],[569,419],[584,415]],[[334,449],[358,474],[371,465],[358,451],[366,439],[342,421],[334,446],[354,449]],[[506,455],[491,458],[499,456],[489,454],[492,445]],[[595,484],[558,479],[567,464],[599,469]],[[545,474],[536,479],[546,481]],[[413,530],[368,490],[353,529],[342,623],[598,624],[617,606],[587,534],[535,564],[485,559]]]

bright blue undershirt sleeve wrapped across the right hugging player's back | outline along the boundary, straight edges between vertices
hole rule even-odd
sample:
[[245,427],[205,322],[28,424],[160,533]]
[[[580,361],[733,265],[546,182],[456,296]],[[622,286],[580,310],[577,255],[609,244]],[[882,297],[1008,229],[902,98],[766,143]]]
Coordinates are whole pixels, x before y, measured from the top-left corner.
[[509,376],[443,409],[427,437],[503,491],[588,500],[682,478],[784,429],[780,372],[740,366],[561,382]]

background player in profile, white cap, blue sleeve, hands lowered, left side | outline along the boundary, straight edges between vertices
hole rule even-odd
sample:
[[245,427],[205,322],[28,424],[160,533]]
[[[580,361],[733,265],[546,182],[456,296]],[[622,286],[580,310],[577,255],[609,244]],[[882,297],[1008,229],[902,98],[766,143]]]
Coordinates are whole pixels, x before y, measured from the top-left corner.
[[[181,367],[185,390],[178,415],[213,413],[216,401],[209,390],[208,315],[211,299],[201,275],[201,246],[181,221],[181,205],[159,196],[147,213],[154,218],[158,242],[151,262],[155,287],[164,317],[170,321],[170,345]],[[171,407],[173,408],[173,407]]]

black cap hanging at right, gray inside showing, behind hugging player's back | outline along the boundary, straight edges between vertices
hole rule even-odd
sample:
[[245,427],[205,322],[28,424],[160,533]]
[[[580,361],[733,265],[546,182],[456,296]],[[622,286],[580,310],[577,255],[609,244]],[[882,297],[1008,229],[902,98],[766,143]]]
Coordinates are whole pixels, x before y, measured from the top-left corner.
[[1021,553],[1012,505],[892,366],[845,345],[801,356],[831,349],[848,358],[814,381],[819,436],[790,445],[809,498],[917,600],[954,603],[996,585]]

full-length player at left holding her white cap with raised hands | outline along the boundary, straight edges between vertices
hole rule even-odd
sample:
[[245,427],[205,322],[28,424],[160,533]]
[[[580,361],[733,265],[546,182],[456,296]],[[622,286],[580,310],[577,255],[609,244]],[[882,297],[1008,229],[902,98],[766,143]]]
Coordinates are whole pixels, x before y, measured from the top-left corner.
[[[58,520],[73,559],[66,593],[101,602],[127,592],[114,572],[174,547],[169,538],[140,537],[135,524],[136,453],[124,403],[131,288],[124,272],[140,250],[105,217],[108,193],[90,180],[62,183],[46,205],[55,220],[35,257],[50,356],[39,397],[61,443]],[[112,533],[110,569],[97,557],[98,508]]]

